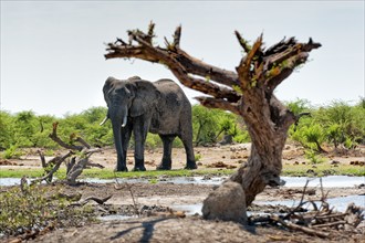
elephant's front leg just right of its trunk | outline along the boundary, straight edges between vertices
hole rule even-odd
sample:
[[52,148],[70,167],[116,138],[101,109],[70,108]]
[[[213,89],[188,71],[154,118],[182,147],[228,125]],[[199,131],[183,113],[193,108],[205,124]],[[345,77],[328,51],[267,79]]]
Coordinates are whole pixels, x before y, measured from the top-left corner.
[[133,123],[133,135],[135,139],[135,171],[145,171],[145,141],[148,133],[148,119],[144,118],[144,116],[139,116],[134,119]]

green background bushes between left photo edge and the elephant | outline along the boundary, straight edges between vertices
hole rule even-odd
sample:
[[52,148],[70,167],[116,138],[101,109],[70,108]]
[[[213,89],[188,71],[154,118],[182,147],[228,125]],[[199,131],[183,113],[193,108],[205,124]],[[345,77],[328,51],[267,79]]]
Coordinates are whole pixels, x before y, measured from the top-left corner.
[[[92,107],[79,115],[66,115],[64,118],[36,116],[33,112],[21,112],[11,115],[0,112],[0,150],[13,147],[41,147],[56,149],[59,146],[49,138],[52,124],[59,122],[62,130],[58,135],[67,140],[70,134],[80,135],[92,146],[113,144],[113,131],[109,123],[100,126],[106,115],[105,107]],[[72,139],[70,139],[72,141]]]

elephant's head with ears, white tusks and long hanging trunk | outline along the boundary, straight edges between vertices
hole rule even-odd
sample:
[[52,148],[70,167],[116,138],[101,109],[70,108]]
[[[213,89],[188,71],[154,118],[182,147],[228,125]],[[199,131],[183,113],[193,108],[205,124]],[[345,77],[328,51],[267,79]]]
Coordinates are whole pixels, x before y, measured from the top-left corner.
[[127,126],[128,117],[137,117],[152,112],[159,93],[153,83],[137,76],[125,81],[108,77],[105,81],[103,93],[108,107],[103,123],[107,118],[112,122],[119,165],[119,161],[124,160],[123,157],[125,158],[122,151],[121,129]]

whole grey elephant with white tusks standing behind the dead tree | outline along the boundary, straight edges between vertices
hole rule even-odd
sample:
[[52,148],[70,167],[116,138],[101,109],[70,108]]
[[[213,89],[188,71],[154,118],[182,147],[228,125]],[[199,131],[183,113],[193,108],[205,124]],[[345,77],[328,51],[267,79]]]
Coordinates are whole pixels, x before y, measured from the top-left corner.
[[146,170],[144,149],[148,131],[158,134],[164,144],[163,159],[157,169],[171,169],[171,148],[176,137],[181,139],[186,150],[186,169],[197,168],[192,149],[191,105],[174,81],[108,77],[103,93],[108,110],[102,124],[108,118],[112,122],[117,152],[116,171],[128,171],[126,155],[132,133],[135,139],[134,170]]

